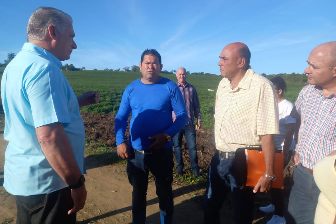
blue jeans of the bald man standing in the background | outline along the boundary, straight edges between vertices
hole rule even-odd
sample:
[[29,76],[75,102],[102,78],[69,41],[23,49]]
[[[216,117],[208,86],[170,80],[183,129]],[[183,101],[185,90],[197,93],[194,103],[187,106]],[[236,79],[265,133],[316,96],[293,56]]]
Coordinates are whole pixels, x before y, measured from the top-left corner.
[[190,156],[190,166],[193,172],[199,171],[198,168],[198,157],[196,149],[196,131],[194,125],[186,125],[173,137],[174,143],[174,153],[177,162],[177,169],[181,170],[184,167],[183,158],[182,158],[182,138],[185,138],[187,143],[189,156]]

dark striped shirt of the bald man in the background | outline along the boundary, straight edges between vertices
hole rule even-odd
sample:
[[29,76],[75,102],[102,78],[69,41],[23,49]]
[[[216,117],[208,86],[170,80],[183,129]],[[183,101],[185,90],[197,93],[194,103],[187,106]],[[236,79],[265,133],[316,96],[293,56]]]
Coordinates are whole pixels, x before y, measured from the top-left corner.
[[[187,113],[188,113],[188,123],[186,125],[195,125],[195,118],[197,121],[201,121],[201,107],[200,107],[200,101],[198,99],[198,95],[196,92],[196,88],[189,84],[185,83],[184,86],[179,84],[178,82],[176,83],[178,88],[180,89],[183,99],[185,102],[185,107],[187,108]],[[173,116],[173,122],[176,119],[176,115],[173,111],[172,113]]]

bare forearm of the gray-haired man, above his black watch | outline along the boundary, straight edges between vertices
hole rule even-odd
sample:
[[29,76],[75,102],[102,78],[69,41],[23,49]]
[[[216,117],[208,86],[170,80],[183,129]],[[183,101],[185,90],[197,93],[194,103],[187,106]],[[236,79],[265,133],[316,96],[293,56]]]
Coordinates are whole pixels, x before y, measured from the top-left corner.
[[76,163],[63,125],[56,122],[38,127],[35,130],[50,166],[67,184],[76,184],[81,176],[81,171]]

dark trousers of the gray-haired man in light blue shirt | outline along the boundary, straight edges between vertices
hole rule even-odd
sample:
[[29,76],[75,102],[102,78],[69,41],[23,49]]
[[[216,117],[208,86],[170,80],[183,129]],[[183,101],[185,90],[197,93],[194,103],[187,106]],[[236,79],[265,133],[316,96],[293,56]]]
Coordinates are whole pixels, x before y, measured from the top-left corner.
[[71,189],[66,187],[49,194],[14,195],[17,224],[76,223],[76,214],[68,215],[74,207]]

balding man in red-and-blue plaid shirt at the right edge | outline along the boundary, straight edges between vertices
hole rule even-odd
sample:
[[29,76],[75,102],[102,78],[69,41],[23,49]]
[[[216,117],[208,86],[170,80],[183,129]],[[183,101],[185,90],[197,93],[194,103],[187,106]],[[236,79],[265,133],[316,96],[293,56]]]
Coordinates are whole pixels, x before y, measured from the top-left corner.
[[292,110],[298,143],[287,223],[314,223],[320,190],[314,165],[336,149],[336,41],[314,48],[307,59],[305,86]]

